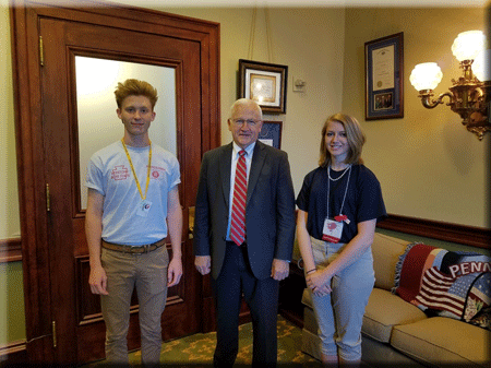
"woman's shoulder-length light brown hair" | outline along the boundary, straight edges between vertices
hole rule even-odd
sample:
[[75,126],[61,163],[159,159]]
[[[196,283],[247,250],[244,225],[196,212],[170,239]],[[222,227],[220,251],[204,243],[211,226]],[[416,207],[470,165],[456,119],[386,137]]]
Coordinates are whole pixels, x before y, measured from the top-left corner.
[[321,155],[319,158],[319,165],[321,167],[327,167],[331,164],[331,154],[325,145],[325,133],[330,122],[335,121],[343,124],[346,131],[346,138],[348,140],[349,151],[345,159],[345,164],[362,164],[361,149],[366,142],[366,136],[361,130],[360,123],[354,117],[346,114],[335,114],[327,118],[322,127],[321,138]]

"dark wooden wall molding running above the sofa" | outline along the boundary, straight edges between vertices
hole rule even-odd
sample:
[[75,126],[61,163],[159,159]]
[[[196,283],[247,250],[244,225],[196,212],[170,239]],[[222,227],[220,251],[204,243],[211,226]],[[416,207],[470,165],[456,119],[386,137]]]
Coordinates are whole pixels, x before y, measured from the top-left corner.
[[490,228],[458,225],[395,214],[388,214],[388,217],[376,224],[376,227],[471,247],[491,249]]

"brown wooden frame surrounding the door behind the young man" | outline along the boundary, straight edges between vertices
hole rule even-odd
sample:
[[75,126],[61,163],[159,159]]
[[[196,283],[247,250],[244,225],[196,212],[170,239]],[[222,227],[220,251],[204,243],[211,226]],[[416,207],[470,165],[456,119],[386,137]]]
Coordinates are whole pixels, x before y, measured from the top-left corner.
[[[82,5],[81,5],[82,3]],[[85,5],[84,5],[85,4]],[[97,7],[95,7],[97,5]],[[220,145],[219,23],[92,0],[14,0],[11,3],[12,73],[21,217],[26,351],[29,363],[53,361],[47,192],[43,150],[39,19],[55,17],[192,40],[201,58],[202,152]],[[197,182],[200,162],[188,168]],[[194,198],[183,198],[184,209]],[[185,211],[187,213],[187,211]],[[200,277],[202,282],[202,277]],[[202,290],[200,284],[197,290]],[[200,297],[202,300],[202,297]]]

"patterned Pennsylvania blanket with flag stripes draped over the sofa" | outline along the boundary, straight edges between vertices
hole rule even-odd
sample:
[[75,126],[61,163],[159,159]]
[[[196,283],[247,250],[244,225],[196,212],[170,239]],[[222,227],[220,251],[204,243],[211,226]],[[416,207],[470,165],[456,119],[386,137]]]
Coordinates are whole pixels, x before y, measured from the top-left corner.
[[392,290],[429,316],[458,319],[491,330],[491,258],[408,245]]

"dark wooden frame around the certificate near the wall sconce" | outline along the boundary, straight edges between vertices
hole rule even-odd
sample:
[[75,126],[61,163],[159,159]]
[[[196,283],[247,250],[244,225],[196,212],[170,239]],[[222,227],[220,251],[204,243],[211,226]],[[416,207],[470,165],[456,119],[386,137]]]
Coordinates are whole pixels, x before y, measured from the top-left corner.
[[[394,46],[394,87],[373,91],[372,55],[387,46]],[[366,119],[395,119],[404,117],[404,33],[378,38],[364,44]],[[376,107],[376,97],[391,96],[391,105]]]

